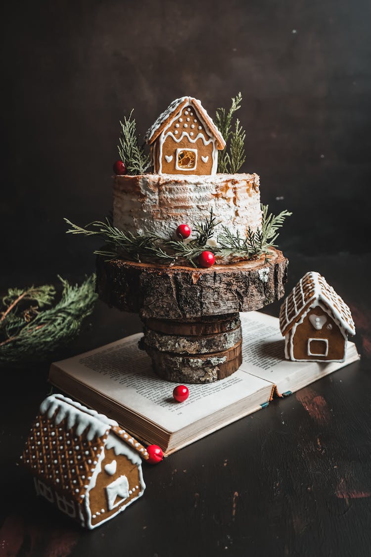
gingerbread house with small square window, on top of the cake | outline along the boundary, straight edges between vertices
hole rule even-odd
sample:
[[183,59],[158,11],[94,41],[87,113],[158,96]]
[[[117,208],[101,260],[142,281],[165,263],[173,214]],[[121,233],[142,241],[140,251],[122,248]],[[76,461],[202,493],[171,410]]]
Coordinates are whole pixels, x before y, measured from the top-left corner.
[[193,97],[175,99],[147,131],[156,174],[216,174],[217,152],[225,141]]

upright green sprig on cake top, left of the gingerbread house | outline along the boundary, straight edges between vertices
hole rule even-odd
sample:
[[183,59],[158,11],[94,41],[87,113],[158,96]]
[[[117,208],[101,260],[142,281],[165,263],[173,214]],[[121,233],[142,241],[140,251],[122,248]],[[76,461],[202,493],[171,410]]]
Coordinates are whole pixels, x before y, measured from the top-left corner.
[[117,145],[118,154],[125,164],[129,174],[144,174],[151,166],[150,157],[144,152],[144,148],[138,145],[136,134],[136,121],[132,118],[133,109],[128,118],[120,120],[121,133]]

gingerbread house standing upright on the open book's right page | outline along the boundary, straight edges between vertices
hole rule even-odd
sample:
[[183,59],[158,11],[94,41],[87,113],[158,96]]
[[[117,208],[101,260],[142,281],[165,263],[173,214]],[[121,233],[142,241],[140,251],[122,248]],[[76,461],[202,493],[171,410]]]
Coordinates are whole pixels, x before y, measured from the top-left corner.
[[285,356],[301,361],[344,361],[348,335],[355,334],[349,307],[318,272],[310,271],[280,310]]

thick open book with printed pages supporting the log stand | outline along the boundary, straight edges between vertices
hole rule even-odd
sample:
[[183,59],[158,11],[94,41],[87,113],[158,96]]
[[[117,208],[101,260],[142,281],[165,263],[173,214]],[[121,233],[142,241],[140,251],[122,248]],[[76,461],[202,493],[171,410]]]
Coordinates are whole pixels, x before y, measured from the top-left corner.
[[291,394],[359,359],[348,343],[342,363],[285,360],[278,319],[256,311],[240,315],[243,364],[216,383],[188,385],[183,403],[172,398],[175,383],[157,377],[149,356],[138,349],[141,333],[53,363],[49,380],[167,456],[268,406],[274,394]]

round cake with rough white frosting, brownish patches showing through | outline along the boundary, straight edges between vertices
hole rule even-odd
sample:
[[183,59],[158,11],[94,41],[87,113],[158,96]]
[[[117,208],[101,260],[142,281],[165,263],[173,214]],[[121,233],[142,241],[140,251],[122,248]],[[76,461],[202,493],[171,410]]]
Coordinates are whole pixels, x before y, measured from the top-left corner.
[[[261,226],[259,176],[143,174],[113,178],[113,225],[169,239],[180,223],[217,221],[245,237]],[[192,234],[191,234],[192,237]]]

